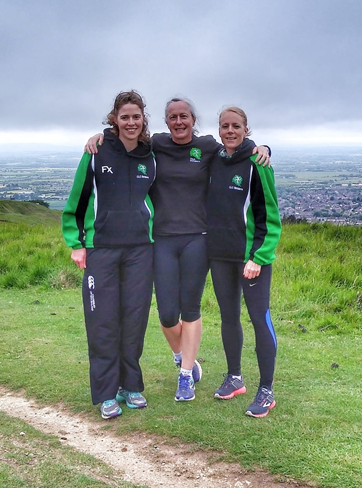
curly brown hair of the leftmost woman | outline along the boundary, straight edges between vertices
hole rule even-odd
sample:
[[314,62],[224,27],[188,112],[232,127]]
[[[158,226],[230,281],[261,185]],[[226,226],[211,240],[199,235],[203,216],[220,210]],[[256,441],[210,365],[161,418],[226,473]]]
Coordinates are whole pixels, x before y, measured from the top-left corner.
[[140,107],[143,115],[143,127],[142,127],[141,134],[138,136],[138,141],[148,142],[151,137],[150,130],[148,128],[149,114],[145,112],[145,108],[146,108],[145,100],[143,99],[142,95],[140,95],[135,90],[130,90],[130,92],[120,92],[117,95],[117,97],[115,98],[113,109],[108,113],[108,115],[103,121],[103,124],[112,126],[110,132],[112,132],[116,136],[119,136],[120,131],[115,119],[117,119],[117,115],[120,108],[123,107],[123,105],[127,105],[128,103],[132,103],[134,105],[137,105],[137,107]]

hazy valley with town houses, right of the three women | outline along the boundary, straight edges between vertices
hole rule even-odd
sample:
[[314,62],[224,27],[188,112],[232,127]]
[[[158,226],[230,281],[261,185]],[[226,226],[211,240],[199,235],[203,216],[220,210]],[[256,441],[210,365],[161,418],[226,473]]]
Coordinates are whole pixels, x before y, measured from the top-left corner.
[[275,151],[282,217],[362,225],[362,148]]

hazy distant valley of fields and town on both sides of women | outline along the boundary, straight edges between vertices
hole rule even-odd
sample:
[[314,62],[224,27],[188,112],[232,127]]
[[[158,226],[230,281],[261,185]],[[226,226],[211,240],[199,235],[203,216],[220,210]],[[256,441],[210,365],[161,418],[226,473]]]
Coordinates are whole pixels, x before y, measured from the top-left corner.
[[[0,199],[62,210],[78,163],[77,153],[3,153]],[[282,217],[362,225],[362,148],[275,150],[272,165]]]

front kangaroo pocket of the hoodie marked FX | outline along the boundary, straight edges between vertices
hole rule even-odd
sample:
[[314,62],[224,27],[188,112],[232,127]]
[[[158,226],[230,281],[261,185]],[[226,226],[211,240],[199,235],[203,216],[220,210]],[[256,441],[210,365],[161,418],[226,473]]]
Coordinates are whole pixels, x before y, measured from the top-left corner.
[[140,210],[109,211],[96,228],[96,247],[118,247],[150,242],[149,228]]

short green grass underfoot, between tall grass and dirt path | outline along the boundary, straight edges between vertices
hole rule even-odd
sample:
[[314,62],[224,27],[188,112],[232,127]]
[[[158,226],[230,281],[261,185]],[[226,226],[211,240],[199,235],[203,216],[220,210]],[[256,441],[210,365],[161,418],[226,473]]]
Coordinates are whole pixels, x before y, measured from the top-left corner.
[[[92,406],[88,357],[79,290],[1,292],[0,383],[24,388],[40,403],[63,402],[74,411],[99,418]],[[37,303],[39,301],[39,303]],[[245,319],[244,319],[245,322]],[[248,392],[217,402],[213,390],[225,371],[219,324],[209,310],[204,317],[199,356],[204,377],[189,404],[173,400],[177,372],[161,339],[153,304],[142,358],[149,407],[124,409],[118,430],[142,430],[177,436],[202,448],[226,452],[226,459],[253,469],[313,481],[320,486],[355,488],[362,484],[360,411],[360,336],[322,333],[305,323],[275,322],[279,351],[275,376],[277,407],[265,419],[244,409],[258,381],[253,330],[245,324],[243,373]],[[332,362],[339,368],[332,368]]]

